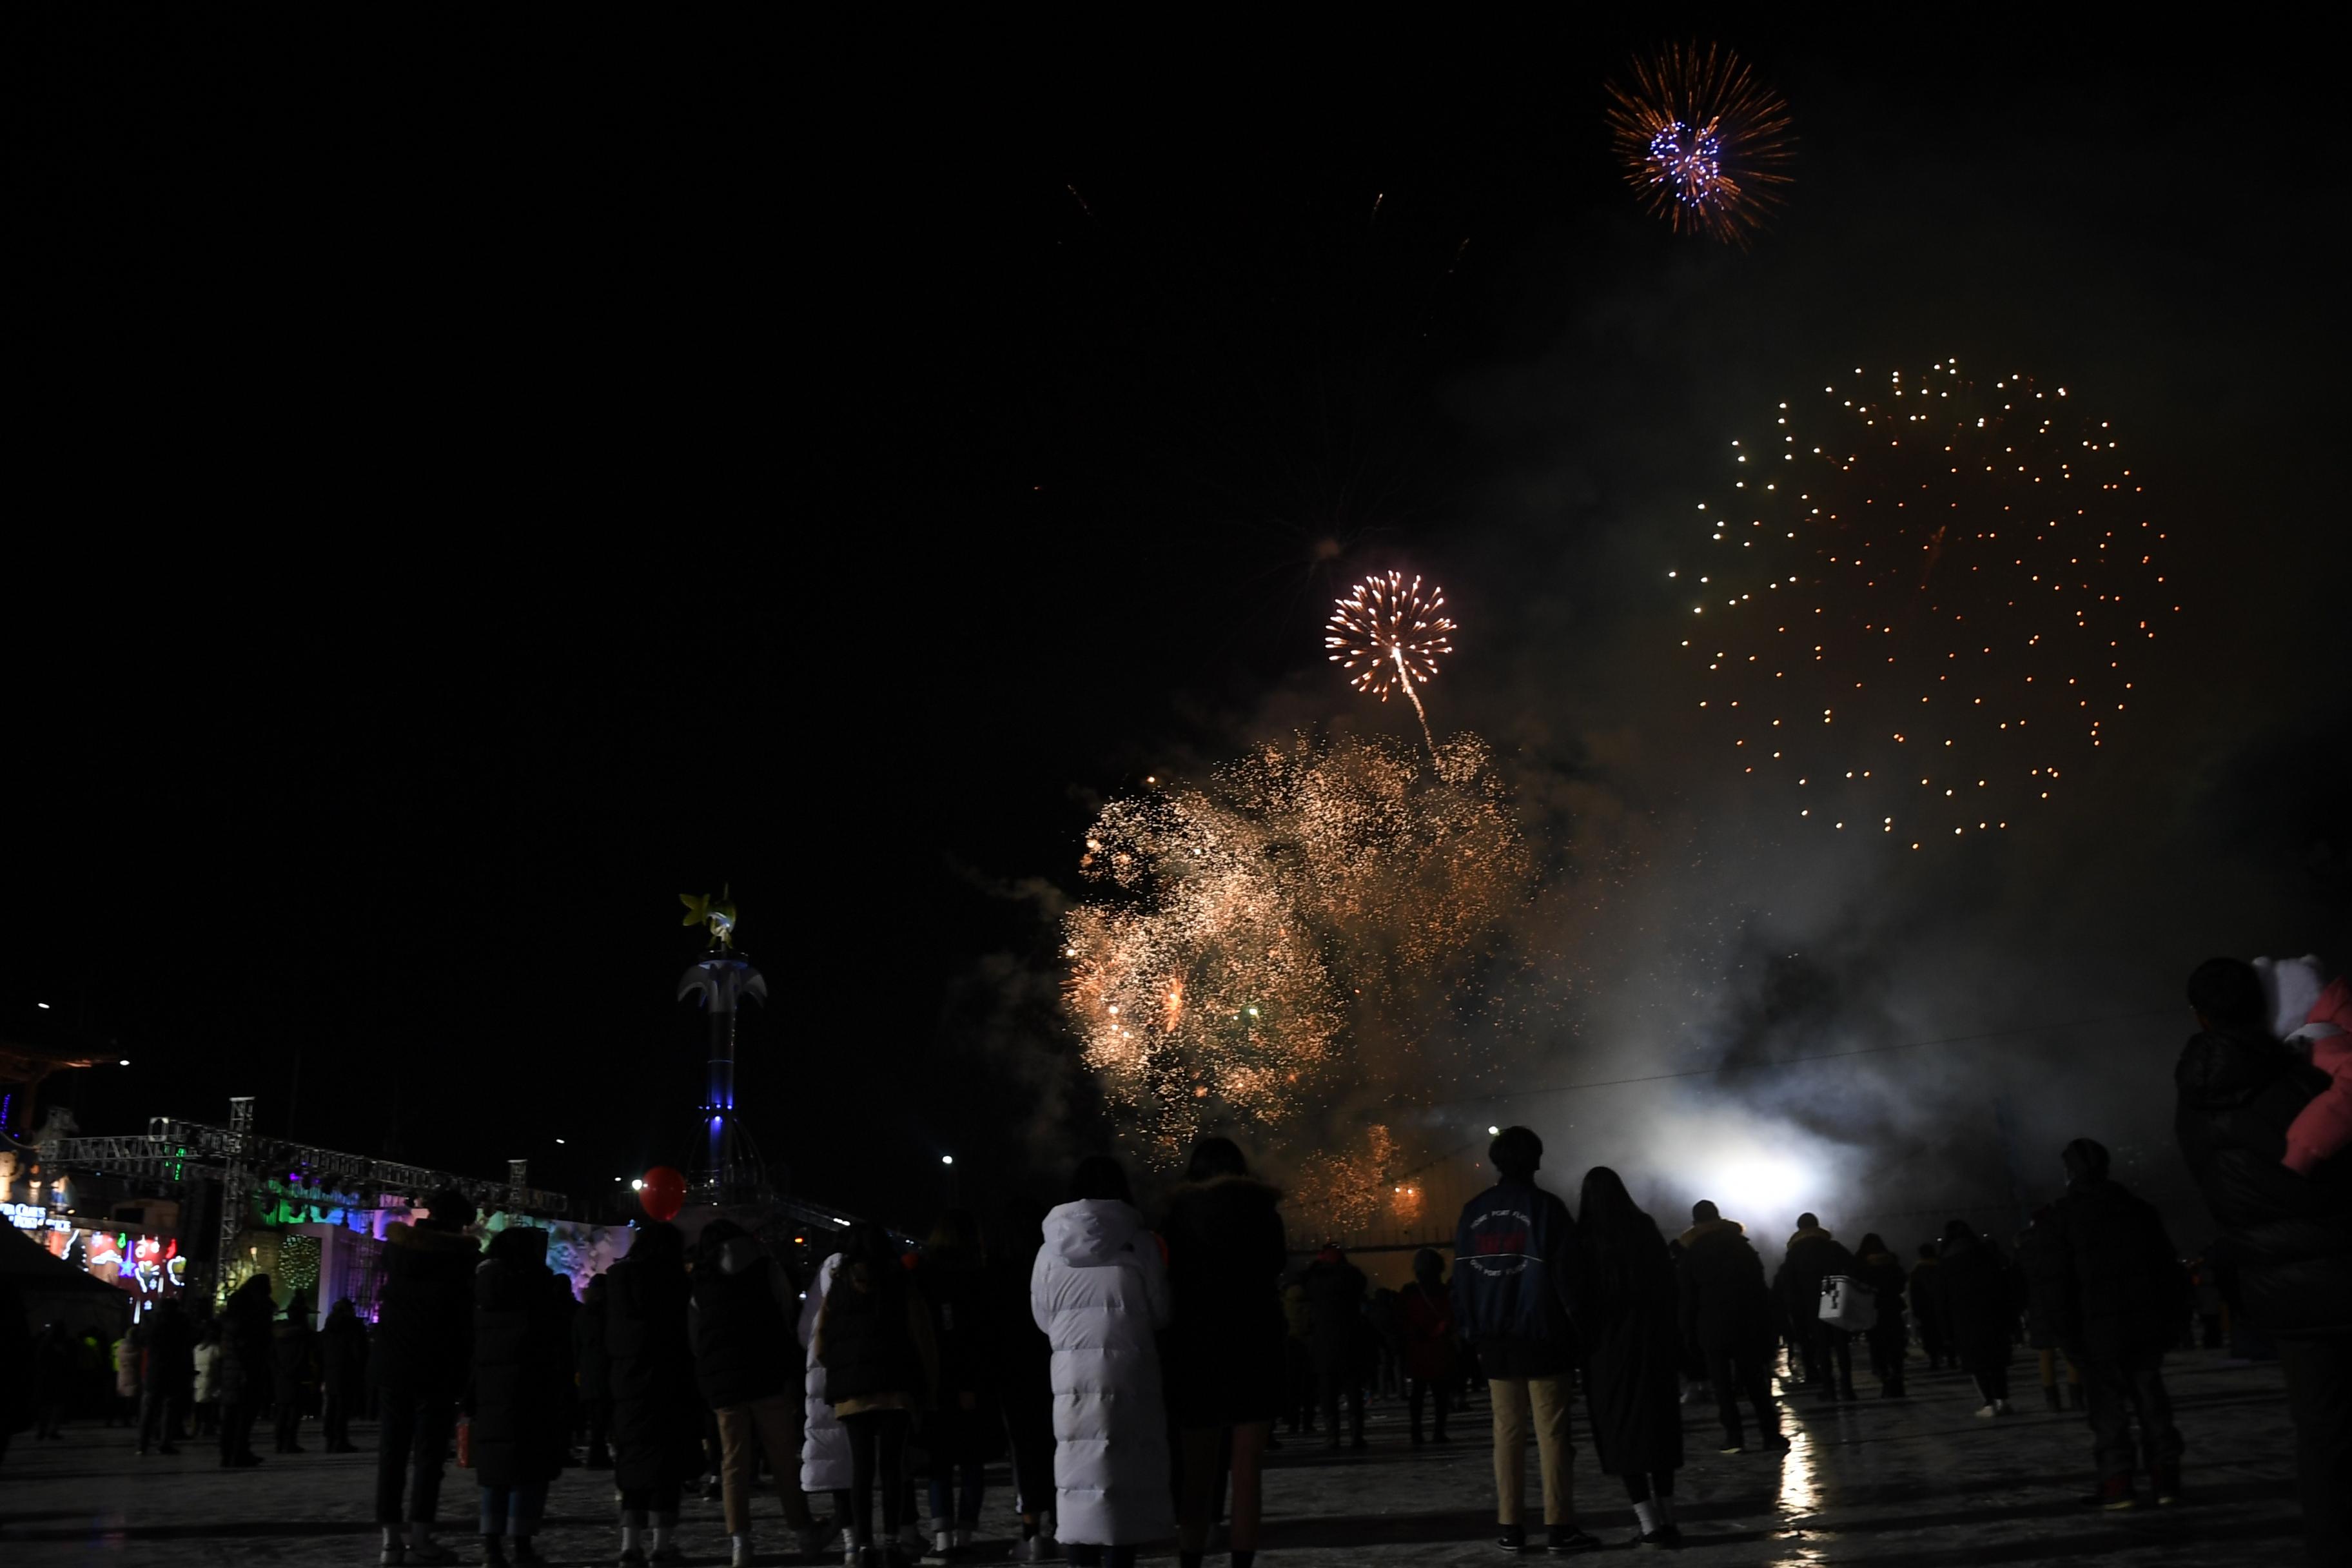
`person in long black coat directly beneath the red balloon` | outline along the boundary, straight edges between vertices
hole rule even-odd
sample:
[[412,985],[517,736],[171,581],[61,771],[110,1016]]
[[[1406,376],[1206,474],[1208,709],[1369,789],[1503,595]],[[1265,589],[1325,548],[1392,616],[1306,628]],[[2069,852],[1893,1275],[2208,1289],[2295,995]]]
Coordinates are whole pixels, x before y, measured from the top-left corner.
[[677,1502],[703,1474],[703,1401],[687,1328],[687,1239],[666,1222],[637,1227],[609,1269],[604,1363],[612,1380],[612,1479],[621,1490],[621,1563],[675,1563]]

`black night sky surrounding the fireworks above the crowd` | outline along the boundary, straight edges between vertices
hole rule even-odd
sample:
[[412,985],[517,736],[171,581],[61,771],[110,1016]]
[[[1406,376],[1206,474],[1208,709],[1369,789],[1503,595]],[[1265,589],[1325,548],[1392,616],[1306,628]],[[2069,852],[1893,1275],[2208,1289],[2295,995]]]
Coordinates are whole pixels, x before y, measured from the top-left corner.
[[[1406,733],[1319,649],[1390,567],[1444,581],[1432,724],[1562,875],[1715,933],[1656,952],[1729,1025],[1604,1001],[1529,1081],[1745,1060],[1750,950],[1952,1034],[2161,1011],[2209,950],[2340,964],[2324,61],[1743,16],[1677,26],[1795,115],[1748,249],[1621,183],[1602,80],[1663,42],[1625,24],[14,16],[0,1009],[132,1060],[45,1093],[604,1194],[684,1154],[677,893],[731,884],[741,1098],[800,1190],[915,1222],[941,1152],[1030,1180],[1098,1138],[1037,879],[1148,773]],[[2185,625],[2030,846],[1830,860],[1698,759],[1661,541],[1792,388],[1947,355],[2136,444]],[[1924,950],[1969,1016],[1889,1001]]]

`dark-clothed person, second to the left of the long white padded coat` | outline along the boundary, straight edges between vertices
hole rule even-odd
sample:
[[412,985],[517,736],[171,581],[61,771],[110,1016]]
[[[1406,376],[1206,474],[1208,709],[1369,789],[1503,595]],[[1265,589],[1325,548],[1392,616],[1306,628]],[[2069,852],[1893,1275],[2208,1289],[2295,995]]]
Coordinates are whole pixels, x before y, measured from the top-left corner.
[[931,1549],[969,1552],[981,1526],[988,1465],[1004,1455],[997,1408],[1002,1333],[990,1291],[988,1244],[969,1208],[948,1208],[915,1265],[915,1291],[938,1345],[938,1406],[922,1418],[931,1455]]

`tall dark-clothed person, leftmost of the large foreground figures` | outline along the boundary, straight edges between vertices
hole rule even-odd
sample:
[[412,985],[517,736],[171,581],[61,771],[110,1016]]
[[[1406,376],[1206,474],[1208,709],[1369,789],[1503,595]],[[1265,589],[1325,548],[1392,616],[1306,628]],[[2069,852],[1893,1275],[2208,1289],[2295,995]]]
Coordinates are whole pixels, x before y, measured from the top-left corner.
[[383,1295],[369,1380],[383,1418],[376,1432],[376,1523],[386,1566],[456,1561],[449,1547],[433,1540],[433,1516],[456,1432],[456,1401],[473,1368],[473,1265],[482,1260],[482,1248],[466,1234],[468,1225],[473,1199],[445,1190],[426,1201],[414,1222],[383,1229]]

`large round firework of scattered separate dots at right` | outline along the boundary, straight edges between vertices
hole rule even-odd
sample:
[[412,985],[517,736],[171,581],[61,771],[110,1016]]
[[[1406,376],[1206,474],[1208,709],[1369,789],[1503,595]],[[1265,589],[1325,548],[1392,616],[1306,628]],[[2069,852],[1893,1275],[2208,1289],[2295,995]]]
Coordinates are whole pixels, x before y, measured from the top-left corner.
[[2180,609],[2107,421],[1943,362],[1780,404],[1668,571],[1726,762],[1832,832],[1999,832],[2138,698]]

